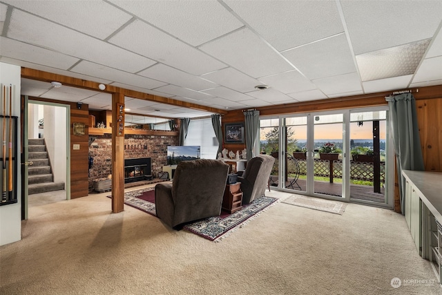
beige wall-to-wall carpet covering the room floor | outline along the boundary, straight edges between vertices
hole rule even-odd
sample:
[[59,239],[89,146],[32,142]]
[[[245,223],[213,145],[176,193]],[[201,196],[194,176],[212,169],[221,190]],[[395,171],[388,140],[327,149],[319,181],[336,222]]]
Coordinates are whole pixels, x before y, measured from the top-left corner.
[[129,206],[111,213],[107,194],[30,207],[23,240],[0,247],[0,294],[441,292],[390,210],[348,204],[341,216],[279,202],[214,243]]

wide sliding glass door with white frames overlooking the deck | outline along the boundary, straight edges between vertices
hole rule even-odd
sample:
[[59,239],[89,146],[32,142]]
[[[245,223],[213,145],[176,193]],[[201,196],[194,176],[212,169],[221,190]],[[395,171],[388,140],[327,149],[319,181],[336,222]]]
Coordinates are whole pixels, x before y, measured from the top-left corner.
[[271,187],[320,198],[391,207],[388,142],[386,108],[260,120],[260,151],[275,158]]

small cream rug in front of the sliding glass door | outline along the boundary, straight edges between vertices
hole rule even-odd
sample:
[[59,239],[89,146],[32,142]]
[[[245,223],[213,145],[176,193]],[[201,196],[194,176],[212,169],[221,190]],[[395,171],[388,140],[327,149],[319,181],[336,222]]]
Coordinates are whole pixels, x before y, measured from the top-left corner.
[[347,203],[300,195],[290,195],[282,203],[343,215]]

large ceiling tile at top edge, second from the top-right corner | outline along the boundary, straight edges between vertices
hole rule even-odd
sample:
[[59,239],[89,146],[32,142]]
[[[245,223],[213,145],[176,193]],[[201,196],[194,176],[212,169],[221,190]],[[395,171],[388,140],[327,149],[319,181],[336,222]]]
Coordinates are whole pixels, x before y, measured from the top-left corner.
[[343,32],[334,1],[224,1],[278,51]]

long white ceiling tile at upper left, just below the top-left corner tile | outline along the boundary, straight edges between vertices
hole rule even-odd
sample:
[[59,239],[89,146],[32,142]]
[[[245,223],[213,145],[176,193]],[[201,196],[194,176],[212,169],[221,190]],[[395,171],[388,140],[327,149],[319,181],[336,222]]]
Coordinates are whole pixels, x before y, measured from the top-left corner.
[[17,9],[12,10],[7,37],[130,73],[155,64],[141,55]]

